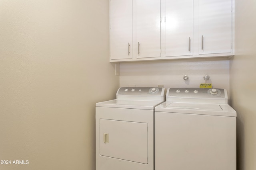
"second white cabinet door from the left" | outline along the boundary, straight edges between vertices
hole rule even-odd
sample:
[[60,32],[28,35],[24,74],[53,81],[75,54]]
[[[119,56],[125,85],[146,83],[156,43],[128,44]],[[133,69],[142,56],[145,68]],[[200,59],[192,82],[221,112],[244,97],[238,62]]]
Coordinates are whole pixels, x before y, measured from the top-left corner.
[[136,0],[136,57],[160,57],[160,0]]

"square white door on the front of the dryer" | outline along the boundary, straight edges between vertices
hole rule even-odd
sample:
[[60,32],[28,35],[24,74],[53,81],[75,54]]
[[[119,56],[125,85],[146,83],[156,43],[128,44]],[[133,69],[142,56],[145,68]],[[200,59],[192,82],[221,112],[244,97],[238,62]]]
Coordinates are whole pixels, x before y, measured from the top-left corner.
[[100,119],[100,155],[148,163],[148,124]]

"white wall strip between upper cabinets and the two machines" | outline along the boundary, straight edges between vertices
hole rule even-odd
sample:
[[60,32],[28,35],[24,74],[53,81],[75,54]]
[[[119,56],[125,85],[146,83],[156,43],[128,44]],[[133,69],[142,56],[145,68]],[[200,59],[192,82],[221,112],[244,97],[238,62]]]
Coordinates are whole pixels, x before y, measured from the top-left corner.
[[[184,59],[120,63],[120,86],[199,87],[208,74],[215,88],[229,90],[229,60],[225,58]],[[183,76],[189,76],[188,81]]]

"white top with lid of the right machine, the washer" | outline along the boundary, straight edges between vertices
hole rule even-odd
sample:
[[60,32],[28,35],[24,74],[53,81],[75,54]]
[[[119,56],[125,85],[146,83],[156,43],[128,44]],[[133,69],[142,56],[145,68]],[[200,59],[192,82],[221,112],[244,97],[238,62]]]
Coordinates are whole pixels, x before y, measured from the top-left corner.
[[236,117],[236,111],[228,104],[164,102],[156,106],[155,111]]

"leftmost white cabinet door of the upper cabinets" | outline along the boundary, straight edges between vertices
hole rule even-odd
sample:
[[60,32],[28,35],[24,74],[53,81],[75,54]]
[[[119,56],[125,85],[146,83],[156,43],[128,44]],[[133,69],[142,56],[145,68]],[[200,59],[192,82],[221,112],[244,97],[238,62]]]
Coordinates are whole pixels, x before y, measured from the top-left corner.
[[110,60],[132,58],[132,0],[110,0]]

